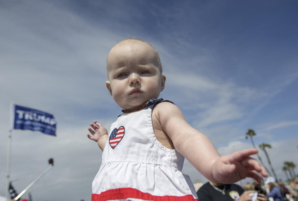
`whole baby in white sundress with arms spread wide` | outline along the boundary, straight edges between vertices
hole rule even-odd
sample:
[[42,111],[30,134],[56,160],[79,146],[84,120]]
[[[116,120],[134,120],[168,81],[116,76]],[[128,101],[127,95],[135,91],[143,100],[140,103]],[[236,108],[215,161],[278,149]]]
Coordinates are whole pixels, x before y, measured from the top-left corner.
[[184,157],[208,180],[230,184],[246,177],[261,182],[265,169],[245,149],[220,156],[211,141],[185,120],[171,101],[158,98],[165,75],[155,48],[125,39],[108,54],[106,87],[123,108],[107,132],[94,121],[88,138],[103,150],[92,183],[92,200],[197,200],[182,174]]

